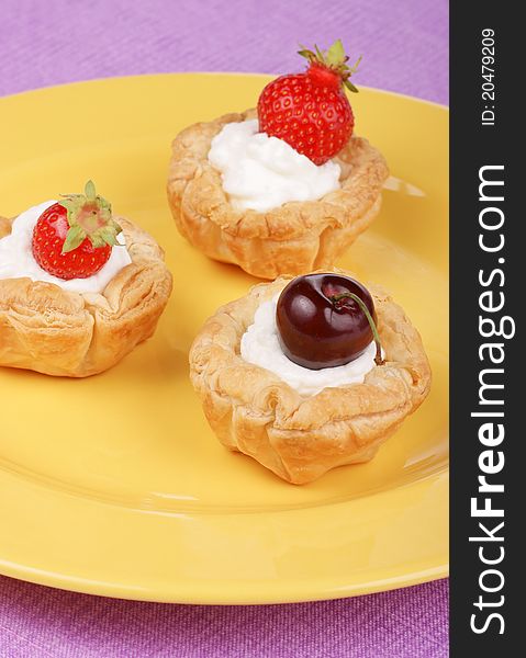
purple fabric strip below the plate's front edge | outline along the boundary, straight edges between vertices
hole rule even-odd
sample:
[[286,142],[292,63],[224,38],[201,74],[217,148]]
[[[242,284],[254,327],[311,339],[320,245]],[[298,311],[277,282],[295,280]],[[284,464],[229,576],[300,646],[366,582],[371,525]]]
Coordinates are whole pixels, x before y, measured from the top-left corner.
[[445,658],[437,581],[293,605],[112,601],[0,577],[1,658]]

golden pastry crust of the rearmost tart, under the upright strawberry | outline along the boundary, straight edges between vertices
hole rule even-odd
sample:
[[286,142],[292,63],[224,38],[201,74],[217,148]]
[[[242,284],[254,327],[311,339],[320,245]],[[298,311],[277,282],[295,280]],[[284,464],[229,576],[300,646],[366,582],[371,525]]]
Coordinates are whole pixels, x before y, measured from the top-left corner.
[[367,139],[352,137],[335,158],[342,166],[339,190],[266,213],[235,211],[208,154],[225,124],[255,116],[255,110],[225,114],[174,140],[168,201],[179,231],[208,257],[262,279],[332,268],[380,209],[389,173],[383,156]]

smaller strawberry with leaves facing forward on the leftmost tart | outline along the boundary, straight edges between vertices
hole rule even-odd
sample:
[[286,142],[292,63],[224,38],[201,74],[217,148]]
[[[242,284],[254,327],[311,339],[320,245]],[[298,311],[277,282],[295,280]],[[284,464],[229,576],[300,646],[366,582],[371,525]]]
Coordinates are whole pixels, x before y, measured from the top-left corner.
[[36,222],[32,250],[38,265],[59,279],[87,279],[108,262],[121,232],[111,205],[99,196],[92,181],[85,194],[67,194]]

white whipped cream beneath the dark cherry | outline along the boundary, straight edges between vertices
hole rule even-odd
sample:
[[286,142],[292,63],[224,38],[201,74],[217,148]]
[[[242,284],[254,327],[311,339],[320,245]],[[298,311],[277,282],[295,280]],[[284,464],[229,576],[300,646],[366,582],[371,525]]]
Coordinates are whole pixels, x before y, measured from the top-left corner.
[[278,298],[279,295],[264,302],[257,309],[254,325],[250,325],[242,337],[242,358],[275,373],[301,395],[315,395],[327,387],[361,384],[367,373],[376,365],[374,341],[358,359],[345,365],[317,371],[298,365],[281,350],[276,325]]

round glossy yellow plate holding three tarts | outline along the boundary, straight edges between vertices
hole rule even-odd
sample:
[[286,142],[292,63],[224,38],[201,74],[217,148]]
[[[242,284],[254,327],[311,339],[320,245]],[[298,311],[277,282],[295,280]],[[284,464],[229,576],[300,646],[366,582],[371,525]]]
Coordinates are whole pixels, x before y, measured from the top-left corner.
[[[352,98],[392,171],[373,228],[339,264],[389,287],[421,329],[424,406],[367,465],[288,485],[213,436],[187,353],[214,309],[255,283],[177,234],[170,139],[253,106],[269,78],[163,75],[0,100],[0,213],[92,178],[164,245],[175,290],[156,336],[85,381],[0,368],[0,571],[83,592],[192,603],[348,597],[447,572],[448,113]],[[99,408],[102,413],[96,413]]]

